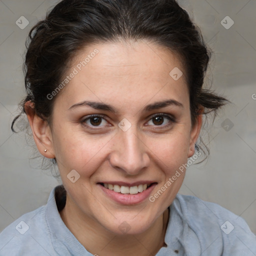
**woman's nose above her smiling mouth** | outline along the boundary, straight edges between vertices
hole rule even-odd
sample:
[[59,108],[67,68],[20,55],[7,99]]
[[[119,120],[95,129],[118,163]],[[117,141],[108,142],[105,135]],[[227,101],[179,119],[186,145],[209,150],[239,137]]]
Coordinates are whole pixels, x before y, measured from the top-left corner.
[[126,174],[136,175],[149,165],[147,149],[135,129],[131,127],[127,131],[119,129],[110,153],[110,164]]

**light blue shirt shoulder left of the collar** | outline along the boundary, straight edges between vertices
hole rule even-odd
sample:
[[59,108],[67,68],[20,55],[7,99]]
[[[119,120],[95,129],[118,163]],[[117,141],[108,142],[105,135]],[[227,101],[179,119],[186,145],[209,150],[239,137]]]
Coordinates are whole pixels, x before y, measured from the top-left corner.
[[45,205],[27,212],[0,233],[0,256],[52,254],[50,231],[45,219]]

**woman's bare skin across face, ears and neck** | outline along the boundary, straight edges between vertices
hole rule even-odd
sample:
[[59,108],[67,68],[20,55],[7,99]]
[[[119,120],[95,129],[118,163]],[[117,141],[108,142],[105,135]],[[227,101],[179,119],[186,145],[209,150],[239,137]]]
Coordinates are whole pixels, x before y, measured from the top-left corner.
[[[164,243],[167,207],[185,172],[154,202],[146,198],[131,205],[115,202],[97,183],[154,181],[153,195],[193,155],[201,115],[191,127],[184,75],[178,80],[169,75],[174,67],[183,74],[184,70],[169,50],[145,41],[93,44],[79,52],[70,70],[95,48],[99,52],[56,96],[50,126],[34,113],[30,102],[25,110],[38,150],[57,159],[67,191],[60,215],[79,242],[99,256],[154,255]],[[144,110],[166,99],[182,106]],[[70,109],[84,100],[110,104],[116,112],[88,105]],[[158,118],[164,113],[174,121],[164,117],[157,125],[152,118],[157,113]],[[84,121],[91,114],[103,115],[99,126],[93,126],[91,119]],[[126,131],[118,127],[123,118],[131,124]],[[72,169],[80,175],[74,183],[67,178]],[[125,233],[119,228],[124,221],[130,227]]]

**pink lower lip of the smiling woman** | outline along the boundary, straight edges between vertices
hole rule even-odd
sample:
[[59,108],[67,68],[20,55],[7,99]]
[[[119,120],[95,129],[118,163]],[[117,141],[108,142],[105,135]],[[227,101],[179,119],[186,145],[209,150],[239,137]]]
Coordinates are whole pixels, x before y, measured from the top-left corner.
[[143,192],[138,192],[137,194],[122,194],[122,193],[115,192],[114,190],[105,188],[104,186],[102,186],[100,184],[97,184],[97,185],[100,186],[102,191],[108,197],[110,197],[111,199],[113,199],[116,202],[119,202],[121,204],[126,204],[126,205],[142,202],[143,200],[145,200],[146,198],[149,197],[151,191],[156,186],[156,184],[152,184],[146,190],[144,190]]

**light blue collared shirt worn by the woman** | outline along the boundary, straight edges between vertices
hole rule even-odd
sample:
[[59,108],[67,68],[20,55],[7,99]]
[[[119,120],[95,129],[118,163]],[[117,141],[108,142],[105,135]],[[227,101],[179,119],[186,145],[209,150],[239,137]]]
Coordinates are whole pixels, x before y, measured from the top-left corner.
[[[46,205],[20,216],[0,233],[0,256],[93,255],[62,221],[54,189]],[[169,208],[167,247],[156,256],[256,255],[256,236],[246,222],[218,204],[177,194]]]

